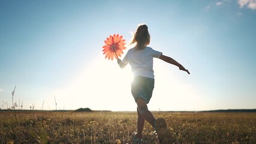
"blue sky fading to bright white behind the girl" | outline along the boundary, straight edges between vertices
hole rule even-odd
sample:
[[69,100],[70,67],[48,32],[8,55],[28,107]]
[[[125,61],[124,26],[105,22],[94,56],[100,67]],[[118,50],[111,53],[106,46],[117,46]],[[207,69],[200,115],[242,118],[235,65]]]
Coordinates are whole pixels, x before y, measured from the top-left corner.
[[[154,59],[150,110],[256,108],[256,1],[0,1],[0,107],[136,110],[130,65],[105,59],[104,40],[129,43],[145,23]],[[124,50],[124,54],[131,47]],[[124,55],[122,55],[123,58]],[[122,59],[121,58],[121,59]]]

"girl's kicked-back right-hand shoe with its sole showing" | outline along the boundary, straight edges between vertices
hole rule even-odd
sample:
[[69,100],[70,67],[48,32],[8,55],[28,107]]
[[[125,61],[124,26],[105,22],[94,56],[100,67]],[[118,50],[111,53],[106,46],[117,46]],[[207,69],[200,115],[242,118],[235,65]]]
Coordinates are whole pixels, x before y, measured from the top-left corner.
[[165,119],[158,118],[154,122],[154,128],[156,129],[157,137],[161,144],[174,143],[175,139],[171,134],[171,131],[167,129]]

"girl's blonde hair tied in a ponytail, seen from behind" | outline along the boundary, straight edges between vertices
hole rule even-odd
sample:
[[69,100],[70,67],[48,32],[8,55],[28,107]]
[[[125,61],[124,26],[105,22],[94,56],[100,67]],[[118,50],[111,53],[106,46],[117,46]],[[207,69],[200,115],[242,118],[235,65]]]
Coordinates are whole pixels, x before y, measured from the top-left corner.
[[139,25],[129,45],[136,43],[136,49],[144,49],[145,44],[150,42],[150,34],[147,25]]

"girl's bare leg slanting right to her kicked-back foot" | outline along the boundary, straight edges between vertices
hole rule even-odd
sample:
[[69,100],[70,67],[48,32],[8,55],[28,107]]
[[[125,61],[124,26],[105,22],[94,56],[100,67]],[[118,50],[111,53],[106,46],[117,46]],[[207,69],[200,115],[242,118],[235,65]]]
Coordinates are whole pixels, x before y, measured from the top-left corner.
[[154,118],[153,114],[148,110],[147,103],[141,98],[138,98],[136,103],[139,113],[144,116],[145,120],[154,127],[154,121],[156,121],[156,118]]

